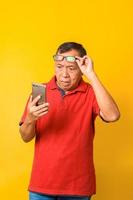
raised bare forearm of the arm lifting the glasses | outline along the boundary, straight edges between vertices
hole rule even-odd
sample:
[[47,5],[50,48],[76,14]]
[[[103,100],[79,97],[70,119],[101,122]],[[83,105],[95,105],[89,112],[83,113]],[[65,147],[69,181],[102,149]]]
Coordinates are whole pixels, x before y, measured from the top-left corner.
[[98,105],[100,107],[100,114],[106,121],[116,121],[120,117],[119,109],[105,87],[100,82],[96,73],[92,71],[87,78],[92,85]]

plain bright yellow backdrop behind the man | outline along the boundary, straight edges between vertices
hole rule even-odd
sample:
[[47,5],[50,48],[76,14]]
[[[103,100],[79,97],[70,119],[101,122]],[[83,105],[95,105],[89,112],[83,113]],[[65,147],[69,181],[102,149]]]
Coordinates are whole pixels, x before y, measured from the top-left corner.
[[18,132],[31,82],[53,75],[52,55],[82,43],[115,98],[121,119],[96,121],[93,200],[133,199],[132,0],[3,1],[0,5],[0,199],[25,200],[34,142]]

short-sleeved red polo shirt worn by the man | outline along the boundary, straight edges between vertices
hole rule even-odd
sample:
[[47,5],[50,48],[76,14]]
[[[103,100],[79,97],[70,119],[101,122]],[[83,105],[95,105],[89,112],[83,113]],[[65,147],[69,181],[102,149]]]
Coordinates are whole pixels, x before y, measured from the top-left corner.
[[81,80],[76,89],[62,96],[54,77],[47,83],[46,95],[49,112],[36,122],[29,190],[57,195],[95,194],[94,120],[100,110],[92,86]]

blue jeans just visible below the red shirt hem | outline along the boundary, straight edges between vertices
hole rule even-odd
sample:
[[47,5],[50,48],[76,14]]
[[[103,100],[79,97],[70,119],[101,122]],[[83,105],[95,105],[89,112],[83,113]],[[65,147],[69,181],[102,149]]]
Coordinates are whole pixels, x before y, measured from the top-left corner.
[[84,196],[65,196],[65,195],[45,195],[29,192],[29,200],[90,200],[91,197]]

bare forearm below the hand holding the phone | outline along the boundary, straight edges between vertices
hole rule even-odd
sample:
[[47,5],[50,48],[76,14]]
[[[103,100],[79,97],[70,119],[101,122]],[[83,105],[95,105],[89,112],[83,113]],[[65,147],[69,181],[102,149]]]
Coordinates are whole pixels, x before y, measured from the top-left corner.
[[20,126],[19,132],[24,142],[31,141],[36,134],[35,121],[26,118],[25,122]]

